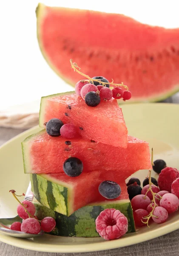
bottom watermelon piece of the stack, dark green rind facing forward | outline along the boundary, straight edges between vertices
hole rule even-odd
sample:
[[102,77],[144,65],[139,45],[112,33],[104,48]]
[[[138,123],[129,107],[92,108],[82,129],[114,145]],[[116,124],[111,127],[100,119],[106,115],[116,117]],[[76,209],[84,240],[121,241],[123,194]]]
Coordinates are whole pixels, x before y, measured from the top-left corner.
[[128,218],[128,233],[135,232],[131,203],[128,199],[116,200],[111,203],[99,202],[91,204],[71,214],[69,217],[58,212],[54,212],[38,201],[34,201],[36,207],[35,215],[39,220],[50,216],[56,220],[56,228],[51,235],[56,236],[77,236],[77,237],[99,237],[96,231],[95,220],[104,209],[115,208],[121,211]]

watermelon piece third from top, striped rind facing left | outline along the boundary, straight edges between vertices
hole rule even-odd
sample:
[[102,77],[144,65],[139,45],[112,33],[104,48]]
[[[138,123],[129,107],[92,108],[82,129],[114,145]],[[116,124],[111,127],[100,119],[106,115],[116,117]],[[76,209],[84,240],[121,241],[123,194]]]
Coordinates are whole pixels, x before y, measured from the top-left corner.
[[69,177],[65,173],[31,175],[32,192],[37,201],[67,216],[89,203],[113,202],[99,194],[99,184],[104,180],[115,181],[121,187],[121,195],[115,200],[128,200],[125,180],[115,173],[94,171],[78,177]]

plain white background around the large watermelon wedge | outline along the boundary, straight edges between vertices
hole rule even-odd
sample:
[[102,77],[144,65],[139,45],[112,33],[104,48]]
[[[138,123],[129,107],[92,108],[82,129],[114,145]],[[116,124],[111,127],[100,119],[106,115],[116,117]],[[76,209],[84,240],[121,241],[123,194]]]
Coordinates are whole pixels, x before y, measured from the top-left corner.
[[[0,111],[41,96],[71,90],[48,67],[36,38],[37,0],[2,0],[0,4]],[[143,23],[179,27],[178,0],[42,0],[65,6],[122,13]]]

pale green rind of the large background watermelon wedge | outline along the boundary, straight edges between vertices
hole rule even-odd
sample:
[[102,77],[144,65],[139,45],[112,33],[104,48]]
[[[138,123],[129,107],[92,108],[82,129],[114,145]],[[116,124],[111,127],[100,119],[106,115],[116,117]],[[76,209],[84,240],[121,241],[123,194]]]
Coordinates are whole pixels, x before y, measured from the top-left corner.
[[[45,61],[47,61],[48,65],[51,67],[52,70],[54,70],[54,72],[60,76],[66,83],[70,84],[71,86],[75,86],[75,84],[73,84],[70,79],[68,79],[67,77],[64,77],[62,75],[62,73],[60,73],[60,71],[51,63],[50,59],[48,58],[48,55],[46,54],[45,52],[45,49],[43,49],[43,43],[42,43],[42,40],[41,40],[41,35],[40,35],[40,27],[41,27],[41,22],[43,20],[43,18],[45,17],[45,8],[46,6],[42,3],[39,3],[38,6],[37,6],[37,9],[36,9],[36,16],[37,16],[37,39],[38,39],[38,43],[39,43],[39,47],[40,47],[40,50],[42,52],[42,55],[43,57],[45,58]],[[53,9],[58,9],[58,7],[53,7]],[[73,9],[71,9],[73,10]],[[75,9],[74,9],[75,11]],[[70,62],[69,62],[69,65],[70,65]],[[143,99],[142,97],[139,98],[139,99],[135,99],[133,100],[132,98],[130,99],[130,101],[125,101],[125,102],[122,102],[122,100],[119,100],[119,104],[122,105],[122,104],[130,104],[130,103],[140,103],[140,102],[159,102],[159,101],[162,101],[164,99],[167,99],[168,97],[172,96],[173,94],[179,92],[179,84],[176,84],[176,85],[173,85],[172,86],[172,90],[171,90],[171,87],[168,91],[162,93],[161,95],[159,96],[155,96],[153,94],[153,96],[151,96],[150,98],[148,98],[148,100],[145,100]]]

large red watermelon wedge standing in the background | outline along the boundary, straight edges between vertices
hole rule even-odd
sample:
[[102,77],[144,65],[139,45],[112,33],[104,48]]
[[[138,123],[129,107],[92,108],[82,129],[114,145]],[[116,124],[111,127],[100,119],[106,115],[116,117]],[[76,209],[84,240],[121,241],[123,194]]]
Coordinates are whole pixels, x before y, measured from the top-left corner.
[[131,101],[158,101],[179,90],[179,29],[164,29],[120,14],[37,7],[40,49],[52,69],[69,84],[82,72],[127,84]]

